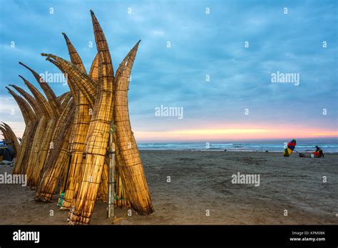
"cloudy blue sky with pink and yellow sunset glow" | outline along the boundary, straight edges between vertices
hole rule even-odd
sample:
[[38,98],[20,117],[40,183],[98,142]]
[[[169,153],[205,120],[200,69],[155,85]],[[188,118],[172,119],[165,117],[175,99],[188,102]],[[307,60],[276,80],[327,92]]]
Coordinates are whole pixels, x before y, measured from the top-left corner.
[[[24,121],[4,87],[28,90],[19,74],[38,86],[19,61],[59,73],[40,53],[69,59],[62,32],[89,70],[96,54],[90,9],[114,70],[141,40],[128,91],[136,140],[338,136],[337,1],[0,3],[0,120],[19,136]],[[280,81],[294,78],[275,83],[277,73]],[[69,90],[50,85],[56,95]],[[177,111],[165,116],[165,108]]]

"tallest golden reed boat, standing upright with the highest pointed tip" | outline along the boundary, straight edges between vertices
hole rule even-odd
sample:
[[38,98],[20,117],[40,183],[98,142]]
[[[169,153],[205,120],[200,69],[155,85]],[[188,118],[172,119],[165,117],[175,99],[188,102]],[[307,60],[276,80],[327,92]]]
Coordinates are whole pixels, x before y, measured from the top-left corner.
[[88,224],[95,206],[98,186],[105,162],[111,118],[113,116],[113,64],[101,26],[91,11],[98,49],[98,95],[88,130],[83,178],[74,200],[71,224]]

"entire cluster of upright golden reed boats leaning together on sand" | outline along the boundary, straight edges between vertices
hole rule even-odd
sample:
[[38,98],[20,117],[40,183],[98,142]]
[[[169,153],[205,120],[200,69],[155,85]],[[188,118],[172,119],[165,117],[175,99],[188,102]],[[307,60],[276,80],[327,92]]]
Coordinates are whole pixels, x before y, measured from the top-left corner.
[[[96,200],[108,198],[110,135],[115,152],[115,205],[130,207],[140,215],[153,212],[128,113],[128,85],[140,41],[114,74],[108,42],[93,11],[91,19],[97,54],[89,71],[66,33],[69,61],[41,53],[66,76],[68,92],[57,96],[39,73],[21,62],[44,94],[24,76],[19,77],[28,90],[6,87],[26,124],[21,143],[14,144],[13,173],[27,175],[36,201],[51,202],[57,193],[58,206],[69,211],[69,224],[88,224]],[[14,139],[8,125],[0,128]]]

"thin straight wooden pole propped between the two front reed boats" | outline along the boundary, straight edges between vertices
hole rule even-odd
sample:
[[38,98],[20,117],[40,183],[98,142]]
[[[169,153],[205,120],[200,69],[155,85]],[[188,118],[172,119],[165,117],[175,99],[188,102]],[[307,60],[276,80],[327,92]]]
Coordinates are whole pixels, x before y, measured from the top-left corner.
[[109,131],[109,178],[108,178],[108,208],[107,217],[114,217],[115,202],[115,144],[113,143],[113,133],[115,132],[114,122],[111,122]]

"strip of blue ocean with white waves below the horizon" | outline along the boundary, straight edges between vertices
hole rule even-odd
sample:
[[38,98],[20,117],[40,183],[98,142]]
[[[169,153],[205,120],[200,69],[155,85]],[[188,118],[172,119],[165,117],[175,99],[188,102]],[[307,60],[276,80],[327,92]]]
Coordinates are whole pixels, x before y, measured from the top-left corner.
[[[140,150],[227,150],[238,152],[282,152],[284,143],[290,140],[250,140],[231,142],[181,142],[181,143],[138,143]],[[315,146],[322,148],[324,153],[338,153],[338,139],[298,139],[295,151],[311,153]]]

